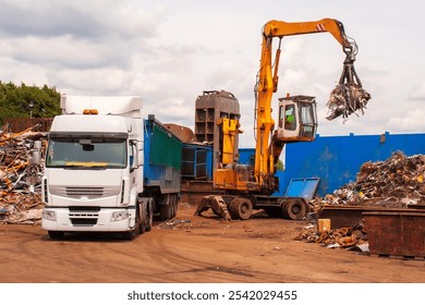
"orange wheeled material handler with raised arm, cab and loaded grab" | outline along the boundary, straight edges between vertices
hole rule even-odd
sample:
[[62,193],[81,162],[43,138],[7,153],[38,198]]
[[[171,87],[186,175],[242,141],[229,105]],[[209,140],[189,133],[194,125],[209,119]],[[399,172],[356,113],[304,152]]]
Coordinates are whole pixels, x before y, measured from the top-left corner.
[[[342,46],[345,53],[343,71],[337,87],[330,94],[327,103],[328,120],[338,117],[347,119],[355,112],[363,112],[371,95],[363,89],[354,70],[357,46],[345,35],[341,22],[324,19],[316,22],[287,23],[270,21],[263,28],[260,66],[255,85],[255,161],[253,166],[240,164],[229,158],[222,159],[221,167],[215,169],[214,186],[223,195],[205,196],[199,203],[197,215],[212,210],[228,219],[248,219],[253,209],[264,209],[270,216],[283,216],[302,219],[308,206],[302,198],[270,196],[278,190],[276,162],[287,143],[309,142],[315,138],[317,115],[315,98],[311,96],[287,96],[279,99],[278,124],[271,117],[271,99],[278,89],[278,71],[282,38],[292,35],[330,33]],[[278,48],[272,56],[274,39],[278,38]],[[232,147],[238,155],[234,138],[239,134],[238,119],[224,118],[217,122],[222,131],[222,147]],[[227,162],[226,160],[230,160]]]

